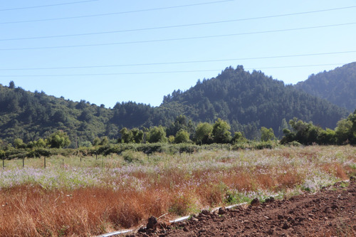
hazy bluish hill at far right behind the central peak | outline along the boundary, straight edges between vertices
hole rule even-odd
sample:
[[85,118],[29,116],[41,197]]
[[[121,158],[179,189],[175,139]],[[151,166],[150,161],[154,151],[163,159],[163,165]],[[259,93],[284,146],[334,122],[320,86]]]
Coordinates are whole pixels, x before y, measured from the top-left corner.
[[356,109],[356,62],[310,75],[308,80],[297,83],[295,88],[353,112]]

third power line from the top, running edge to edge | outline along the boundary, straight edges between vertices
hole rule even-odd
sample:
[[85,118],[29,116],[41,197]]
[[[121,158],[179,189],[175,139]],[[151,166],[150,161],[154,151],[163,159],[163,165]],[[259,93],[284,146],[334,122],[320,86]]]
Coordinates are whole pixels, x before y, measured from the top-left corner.
[[336,11],[341,9],[351,9],[355,8],[356,6],[347,6],[337,9],[324,9],[319,11],[305,11],[299,12],[294,14],[281,14],[275,16],[261,16],[255,18],[248,18],[248,19],[233,19],[233,20],[226,20],[226,21],[209,21],[209,22],[202,22],[202,23],[190,23],[190,24],[182,24],[182,25],[175,25],[175,26],[157,26],[157,27],[150,27],[150,28],[135,28],[135,29],[127,29],[127,30],[118,30],[118,31],[100,31],[100,32],[89,32],[89,33],[75,33],[75,34],[66,34],[66,35],[56,35],[56,36],[35,36],[35,37],[26,37],[26,38],[4,38],[0,39],[0,41],[19,41],[19,40],[29,40],[29,39],[39,39],[39,38],[61,38],[61,37],[70,37],[70,36],[92,36],[92,35],[99,35],[99,34],[107,34],[107,33],[123,33],[123,32],[132,32],[132,31],[150,31],[150,30],[157,30],[157,29],[164,29],[164,28],[179,28],[179,27],[187,27],[187,26],[204,26],[216,23],[231,23],[236,21],[249,21],[249,20],[256,20],[256,19],[266,19],[266,18],[273,18],[273,17],[281,17],[281,16],[293,16],[293,15],[300,15],[300,14],[312,14],[322,11]]

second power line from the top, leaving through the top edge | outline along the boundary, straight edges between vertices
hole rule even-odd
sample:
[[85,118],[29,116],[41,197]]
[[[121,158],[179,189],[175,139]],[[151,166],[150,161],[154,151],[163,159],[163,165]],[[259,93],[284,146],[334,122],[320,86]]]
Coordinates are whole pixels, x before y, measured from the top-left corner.
[[120,15],[120,14],[132,14],[137,12],[144,12],[144,11],[157,11],[157,10],[167,10],[167,9],[177,9],[183,8],[188,6],[201,6],[207,4],[219,4],[224,3],[227,1],[235,1],[235,0],[221,0],[221,1],[210,1],[201,4],[187,4],[187,5],[179,5],[179,6],[166,6],[166,7],[159,7],[155,9],[142,9],[142,10],[134,10],[134,11],[120,11],[120,12],[112,12],[108,14],[92,14],[92,15],[83,15],[83,16],[68,16],[68,17],[59,17],[59,18],[51,18],[51,19],[37,19],[37,20],[27,20],[27,21],[5,21],[0,22],[0,24],[10,24],[10,23],[28,23],[28,22],[38,22],[38,21],[57,21],[57,20],[67,20],[67,19],[80,19],[80,18],[87,18],[87,17],[95,17],[95,16],[111,16],[111,15]]

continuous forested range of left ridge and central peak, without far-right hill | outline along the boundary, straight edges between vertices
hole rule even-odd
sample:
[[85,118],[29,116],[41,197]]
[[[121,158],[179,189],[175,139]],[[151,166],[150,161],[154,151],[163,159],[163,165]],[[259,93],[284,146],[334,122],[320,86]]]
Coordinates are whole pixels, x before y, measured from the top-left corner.
[[30,142],[63,130],[70,137],[70,147],[78,147],[95,137],[117,139],[122,127],[157,125],[166,126],[167,135],[175,135],[179,115],[185,115],[179,120],[184,120],[190,132],[197,122],[214,122],[220,117],[230,123],[231,132],[241,131],[254,138],[261,126],[281,135],[286,121],[293,117],[334,128],[347,114],[326,100],[284,85],[261,71],[249,73],[242,66],[226,68],[216,78],[198,81],[185,92],[174,90],[164,96],[159,107],[117,102],[108,109],[85,100],[73,102],[43,92],[31,93],[16,88],[13,82],[0,84],[0,139],[11,143],[15,138]]

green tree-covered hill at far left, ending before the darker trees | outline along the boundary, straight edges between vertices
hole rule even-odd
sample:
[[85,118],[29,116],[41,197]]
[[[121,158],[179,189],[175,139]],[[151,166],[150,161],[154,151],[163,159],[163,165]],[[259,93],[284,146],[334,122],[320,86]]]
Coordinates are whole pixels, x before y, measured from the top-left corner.
[[0,138],[6,142],[15,138],[35,141],[62,130],[75,147],[107,135],[111,113],[103,105],[90,105],[85,100],[73,102],[43,92],[31,93],[11,83],[9,87],[0,85]]

